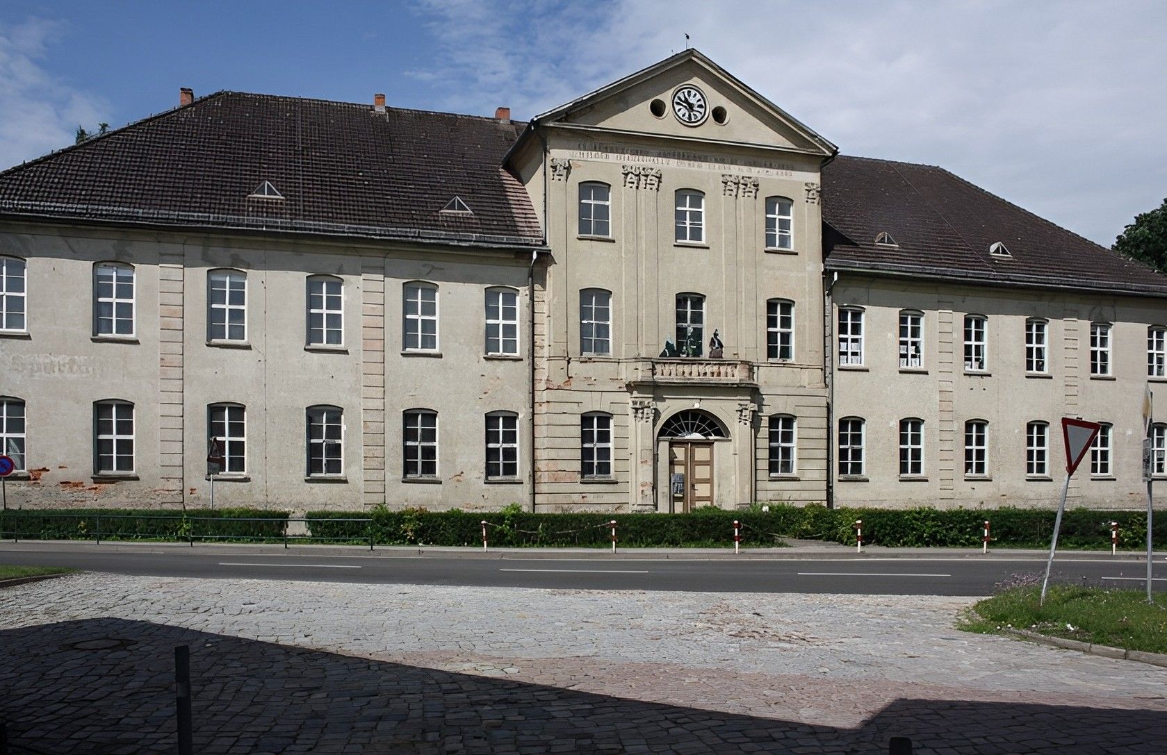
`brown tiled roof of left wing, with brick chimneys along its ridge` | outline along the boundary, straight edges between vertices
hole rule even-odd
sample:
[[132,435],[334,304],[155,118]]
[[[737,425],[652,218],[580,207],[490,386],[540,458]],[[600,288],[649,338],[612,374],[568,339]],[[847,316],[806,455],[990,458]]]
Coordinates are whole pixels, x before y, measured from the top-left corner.
[[[218,92],[0,173],[0,212],[540,245],[501,167],[525,125]],[[249,197],[264,181],[284,198]]]

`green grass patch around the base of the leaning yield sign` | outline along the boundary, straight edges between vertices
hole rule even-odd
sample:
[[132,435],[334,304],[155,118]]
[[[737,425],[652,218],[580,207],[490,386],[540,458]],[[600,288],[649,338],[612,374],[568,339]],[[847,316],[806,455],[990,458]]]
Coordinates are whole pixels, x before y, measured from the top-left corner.
[[1039,606],[1040,585],[1006,587],[960,617],[959,629],[1005,634],[1027,629],[1126,650],[1167,653],[1167,594],[1147,603],[1146,590],[1050,585]]

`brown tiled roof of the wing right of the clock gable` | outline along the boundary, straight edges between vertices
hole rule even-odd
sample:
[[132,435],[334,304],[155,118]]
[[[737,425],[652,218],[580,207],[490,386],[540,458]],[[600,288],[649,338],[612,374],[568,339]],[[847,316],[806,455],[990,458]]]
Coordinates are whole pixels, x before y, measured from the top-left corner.
[[[822,197],[827,270],[1167,295],[1167,277],[935,166],[840,155]],[[990,256],[995,242],[1012,257]]]

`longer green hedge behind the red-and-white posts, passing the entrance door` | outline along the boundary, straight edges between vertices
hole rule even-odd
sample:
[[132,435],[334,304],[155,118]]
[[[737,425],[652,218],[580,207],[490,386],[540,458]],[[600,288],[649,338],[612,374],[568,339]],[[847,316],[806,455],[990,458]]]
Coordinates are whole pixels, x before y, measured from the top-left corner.
[[[615,519],[619,544],[624,547],[721,547],[733,543],[733,520],[742,523],[743,546],[781,545],[782,538],[832,540],[855,544],[854,522],[864,522],[864,541],[889,547],[972,547],[981,543],[985,519],[992,522],[992,547],[1049,547],[1055,512],[1033,509],[826,509],[823,505],[754,506],[747,511],[701,509],[692,513],[527,513],[508,508],[501,512],[313,511],[307,515],[313,537],[368,537],[364,524],[328,522],[330,518],[368,516],[379,545],[474,546],[482,544],[483,519],[488,540],[497,547],[610,545]],[[1109,548],[1110,522],[1119,523],[1119,547],[1138,550],[1146,541],[1146,515],[1137,511],[1074,509],[1062,517],[1058,547]],[[1167,546],[1167,516],[1155,520],[1154,541]]]

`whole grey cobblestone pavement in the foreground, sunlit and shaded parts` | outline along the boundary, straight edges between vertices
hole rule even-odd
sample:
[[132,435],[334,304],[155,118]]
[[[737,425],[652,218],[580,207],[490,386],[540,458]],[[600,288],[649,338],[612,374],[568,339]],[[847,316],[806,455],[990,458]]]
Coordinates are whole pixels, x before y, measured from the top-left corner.
[[957,631],[970,602],[78,574],[0,590],[0,718],[173,751],[190,644],[200,753],[1163,751],[1162,669]]

